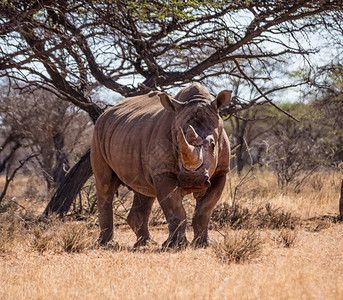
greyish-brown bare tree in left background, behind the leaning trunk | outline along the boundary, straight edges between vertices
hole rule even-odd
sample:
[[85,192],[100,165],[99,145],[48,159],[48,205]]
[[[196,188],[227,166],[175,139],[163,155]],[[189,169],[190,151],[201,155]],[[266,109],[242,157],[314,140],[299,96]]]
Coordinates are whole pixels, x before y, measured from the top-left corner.
[[34,155],[34,168],[49,189],[64,179],[80,145],[89,118],[67,102],[47,91],[10,93],[0,96],[1,171],[16,168],[16,161]]

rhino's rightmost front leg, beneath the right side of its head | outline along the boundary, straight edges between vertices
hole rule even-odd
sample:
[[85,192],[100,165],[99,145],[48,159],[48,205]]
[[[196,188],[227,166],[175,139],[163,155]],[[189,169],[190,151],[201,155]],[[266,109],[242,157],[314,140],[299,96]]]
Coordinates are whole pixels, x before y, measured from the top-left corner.
[[194,195],[196,198],[196,208],[192,221],[194,230],[192,245],[195,247],[208,246],[208,223],[213,209],[223,192],[225,181],[226,174],[216,176],[212,180],[211,187],[206,191],[205,195]]

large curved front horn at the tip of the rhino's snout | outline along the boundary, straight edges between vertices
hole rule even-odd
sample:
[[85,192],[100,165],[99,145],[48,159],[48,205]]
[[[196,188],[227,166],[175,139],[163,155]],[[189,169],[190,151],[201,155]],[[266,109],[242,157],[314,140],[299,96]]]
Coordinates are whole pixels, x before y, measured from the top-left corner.
[[182,165],[188,170],[199,168],[203,164],[202,147],[190,145],[181,128],[179,129],[179,142]]

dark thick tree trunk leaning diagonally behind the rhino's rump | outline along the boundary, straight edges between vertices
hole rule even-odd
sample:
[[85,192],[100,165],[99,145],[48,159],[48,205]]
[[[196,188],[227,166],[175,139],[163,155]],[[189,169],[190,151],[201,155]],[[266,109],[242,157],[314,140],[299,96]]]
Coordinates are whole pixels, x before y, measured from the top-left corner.
[[61,217],[64,216],[91,175],[90,150],[88,150],[66,174],[43,214],[57,213]]

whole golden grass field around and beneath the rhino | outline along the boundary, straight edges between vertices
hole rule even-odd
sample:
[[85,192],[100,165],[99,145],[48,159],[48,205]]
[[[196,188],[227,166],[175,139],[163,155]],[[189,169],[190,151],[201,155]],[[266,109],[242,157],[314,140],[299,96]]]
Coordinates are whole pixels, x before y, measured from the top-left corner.
[[[212,222],[210,247],[178,252],[160,251],[165,224],[151,228],[157,245],[148,249],[131,249],[126,225],[112,247],[94,248],[96,218],[37,221],[46,202],[22,196],[26,180],[13,183],[0,213],[0,299],[343,299],[339,174],[316,174],[300,193],[279,191],[269,173],[254,176],[235,203],[241,213],[269,203],[273,216],[252,213],[241,229]],[[231,179],[223,203],[238,183]],[[276,226],[277,218],[288,225]],[[245,246],[242,259],[232,259],[230,251]]]

